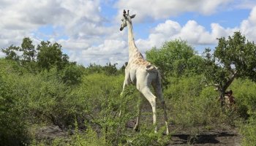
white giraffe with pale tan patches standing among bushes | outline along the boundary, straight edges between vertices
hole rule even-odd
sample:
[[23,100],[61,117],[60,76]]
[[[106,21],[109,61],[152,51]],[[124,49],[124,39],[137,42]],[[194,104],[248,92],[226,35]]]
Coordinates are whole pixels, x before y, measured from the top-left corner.
[[[166,134],[169,134],[169,128],[167,124],[167,114],[165,107],[165,100],[162,95],[162,84],[161,77],[159,74],[159,70],[156,66],[153,66],[150,62],[146,61],[143,58],[143,55],[139,52],[138,48],[135,45],[135,40],[132,32],[132,18],[135,18],[135,15],[129,16],[129,10],[126,12],[124,10],[122,23],[120,31],[124,29],[124,27],[128,27],[128,45],[129,45],[129,61],[125,68],[125,78],[123,91],[121,95],[124,93],[124,88],[126,85],[136,85],[136,88],[140,93],[149,101],[152,107],[153,112],[153,123],[154,123],[154,131],[157,132],[157,111],[156,111],[156,99],[158,98],[161,101],[162,108],[164,110],[164,118],[166,125]],[[151,85],[154,88],[154,91],[157,96],[151,92]],[[139,122],[140,122],[140,114],[141,114],[141,101],[138,103],[138,118],[135,124],[134,129],[138,130]]]

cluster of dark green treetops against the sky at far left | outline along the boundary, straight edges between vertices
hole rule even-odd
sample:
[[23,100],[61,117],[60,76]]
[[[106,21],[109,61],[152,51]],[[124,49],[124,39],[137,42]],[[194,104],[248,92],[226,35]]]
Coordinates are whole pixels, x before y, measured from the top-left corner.
[[[61,45],[58,43],[42,41],[36,48],[29,37],[23,39],[20,47],[11,45],[1,51],[7,55],[5,58],[20,62],[21,66],[34,74],[53,67],[61,70],[69,64],[75,64],[68,61],[69,57],[62,53]],[[22,55],[19,56],[18,53]]]

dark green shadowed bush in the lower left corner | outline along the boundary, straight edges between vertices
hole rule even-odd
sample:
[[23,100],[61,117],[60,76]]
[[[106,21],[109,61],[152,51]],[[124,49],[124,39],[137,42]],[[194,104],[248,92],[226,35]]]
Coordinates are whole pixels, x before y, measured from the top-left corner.
[[15,84],[17,76],[0,70],[0,142],[1,145],[22,145],[27,141],[25,113],[20,105]]

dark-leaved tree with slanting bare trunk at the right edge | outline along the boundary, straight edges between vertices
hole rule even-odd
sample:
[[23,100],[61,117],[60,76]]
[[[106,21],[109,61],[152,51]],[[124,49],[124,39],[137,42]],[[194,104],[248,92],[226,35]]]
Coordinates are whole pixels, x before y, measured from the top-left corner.
[[[235,78],[249,77],[256,80],[256,46],[254,42],[246,41],[240,32],[233,37],[221,37],[213,54],[211,49],[205,50],[206,85],[214,85],[220,99]],[[223,100],[222,105],[224,104]]]

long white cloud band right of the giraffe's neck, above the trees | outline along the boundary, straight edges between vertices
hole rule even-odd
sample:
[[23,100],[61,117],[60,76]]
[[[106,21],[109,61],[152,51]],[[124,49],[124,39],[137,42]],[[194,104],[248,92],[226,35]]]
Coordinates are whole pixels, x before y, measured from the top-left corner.
[[160,47],[165,41],[173,39],[183,39],[193,46],[217,45],[217,38],[232,36],[235,31],[241,31],[246,39],[256,42],[256,7],[252,9],[249,17],[241,22],[240,26],[234,28],[224,28],[219,23],[211,23],[211,31],[207,31],[195,20],[187,21],[184,26],[173,20],[166,20],[165,23],[159,23],[153,28],[148,39],[138,39],[136,43],[143,53],[152,47]]

